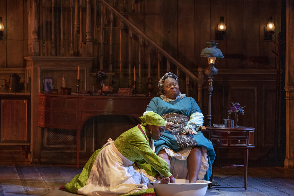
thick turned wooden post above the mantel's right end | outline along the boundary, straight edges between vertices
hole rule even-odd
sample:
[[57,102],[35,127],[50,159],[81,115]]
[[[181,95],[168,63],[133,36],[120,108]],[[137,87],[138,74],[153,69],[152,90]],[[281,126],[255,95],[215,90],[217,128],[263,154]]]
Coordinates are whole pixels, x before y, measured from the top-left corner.
[[93,42],[92,42],[92,16],[91,16],[91,2],[87,0],[87,15],[86,15],[86,56],[93,56]]

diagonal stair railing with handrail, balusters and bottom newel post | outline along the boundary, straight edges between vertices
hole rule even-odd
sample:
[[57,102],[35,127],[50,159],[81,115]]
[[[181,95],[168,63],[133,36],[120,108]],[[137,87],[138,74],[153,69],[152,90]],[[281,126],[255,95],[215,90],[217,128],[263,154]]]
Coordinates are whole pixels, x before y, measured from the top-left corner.
[[[162,74],[160,72],[161,68],[161,55],[163,55],[167,59],[167,70],[166,72],[170,71],[170,66],[171,63],[173,63],[176,66],[176,74],[179,76],[180,75],[180,70],[183,71],[186,74],[186,95],[189,96],[189,89],[188,89],[188,84],[190,81],[190,78],[192,81],[195,81],[198,84],[198,105],[202,108],[202,89],[203,89],[203,83],[204,83],[204,74],[203,74],[203,68],[199,67],[198,68],[198,77],[195,76],[191,71],[189,71],[185,66],[183,66],[181,63],[179,63],[175,58],[173,58],[169,53],[167,53],[161,46],[159,46],[155,41],[153,41],[150,37],[148,37],[145,33],[143,33],[140,29],[138,29],[133,23],[131,23],[128,19],[126,19],[123,14],[118,12],[113,6],[108,4],[105,0],[98,0],[105,8],[111,11],[110,14],[110,63],[109,63],[109,68],[110,72],[112,72],[112,29],[113,29],[113,15],[118,17],[120,21],[120,86],[122,86],[122,59],[121,59],[121,53],[122,53],[122,30],[124,26],[129,29],[128,32],[128,37],[129,37],[129,57],[128,57],[128,81],[129,81],[129,86],[132,86],[132,79],[131,79],[131,46],[132,46],[132,37],[133,37],[133,32],[138,34],[138,44],[139,44],[139,90],[141,89],[141,74],[142,74],[142,69],[141,69],[141,56],[142,56],[142,39],[147,41],[148,43],[148,78],[151,76],[151,47],[153,47],[157,51],[157,61],[158,61],[158,80],[161,78]],[[103,15],[105,16],[103,12],[105,11],[105,8],[101,6],[101,27],[100,27],[100,43],[101,43],[101,48],[100,48],[100,68],[103,68],[103,41],[104,41],[104,33],[103,33],[103,26],[104,26],[104,21],[105,19],[103,18]],[[123,24],[124,23],[124,24]]]

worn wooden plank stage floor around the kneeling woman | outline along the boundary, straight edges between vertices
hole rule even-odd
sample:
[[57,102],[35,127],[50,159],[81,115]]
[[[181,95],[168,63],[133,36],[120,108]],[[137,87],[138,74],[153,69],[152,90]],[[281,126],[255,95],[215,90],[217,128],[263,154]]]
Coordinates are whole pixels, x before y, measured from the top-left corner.
[[[0,152],[0,196],[76,195],[59,187],[69,182],[82,168],[75,165],[36,165],[25,162],[21,153]],[[220,184],[206,195],[294,195],[294,169],[249,167],[248,187],[244,190],[243,168],[215,168],[213,179]]]

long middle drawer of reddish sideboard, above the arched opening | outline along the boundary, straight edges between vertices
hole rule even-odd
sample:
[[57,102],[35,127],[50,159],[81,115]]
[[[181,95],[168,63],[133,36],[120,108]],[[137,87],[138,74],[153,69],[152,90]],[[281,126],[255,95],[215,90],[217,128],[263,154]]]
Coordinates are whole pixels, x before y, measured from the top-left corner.
[[82,110],[84,111],[144,111],[145,102],[141,100],[82,100]]

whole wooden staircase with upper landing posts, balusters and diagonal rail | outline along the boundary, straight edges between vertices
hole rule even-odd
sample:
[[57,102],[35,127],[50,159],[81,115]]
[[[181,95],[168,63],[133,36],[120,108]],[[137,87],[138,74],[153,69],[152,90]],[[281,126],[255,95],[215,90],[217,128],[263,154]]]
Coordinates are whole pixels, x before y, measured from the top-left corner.
[[[127,19],[142,14],[141,0],[109,2],[51,0],[50,5],[46,0],[39,4],[29,0],[28,25],[32,32],[29,33],[29,55],[93,57],[92,75],[106,69],[115,89],[133,87],[135,68],[137,91],[141,94],[146,93],[148,78],[153,79],[157,91],[163,74],[173,72],[179,77],[181,93],[189,96],[189,91],[193,91],[191,94],[198,96],[195,99],[201,108],[203,68],[193,73]],[[132,7],[131,12],[127,11],[129,7]],[[70,21],[63,22],[64,19]],[[44,25],[46,21],[52,21],[50,28]],[[50,41],[46,41],[48,37]]]

